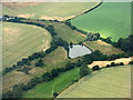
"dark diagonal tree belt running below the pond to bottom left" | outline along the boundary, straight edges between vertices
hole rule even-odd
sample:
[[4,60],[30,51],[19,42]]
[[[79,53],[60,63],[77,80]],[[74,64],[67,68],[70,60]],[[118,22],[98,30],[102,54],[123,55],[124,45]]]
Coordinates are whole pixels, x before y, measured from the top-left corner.
[[[102,54],[100,51],[94,51],[91,54],[86,54],[79,59],[76,62],[68,62],[64,68],[57,68],[52,69],[50,72],[43,73],[41,77],[35,77],[31,79],[27,84],[16,84],[13,86],[12,91],[9,90],[8,92],[3,93],[3,98],[20,98],[24,91],[28,91],[29,89],[32,89],[38,83],[48,82],[53,80],[55,77],[58,77],[60,73],[69,71],[71,69],[74,69],[76,67],[80,67],[80,78],[90,74],[91,70],[89,69],[88,64],[92,63],[92,61],[96,60],[114,60],[117,58],[121,58],[123,54],[114,54],[106,57],[105,54]],[[133,61],[130,62],[133,64]],[[123,63],[119,63],[123,64]],[[115,63],[111,63],[110,67],[115,66]],[[94,67],[92,71],[100,70],[99,67]]]

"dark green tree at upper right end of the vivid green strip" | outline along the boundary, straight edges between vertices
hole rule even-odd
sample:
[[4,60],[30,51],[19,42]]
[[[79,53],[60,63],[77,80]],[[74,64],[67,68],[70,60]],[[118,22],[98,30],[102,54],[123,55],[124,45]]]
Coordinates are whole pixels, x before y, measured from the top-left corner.
[[88,67],[88,64],[83,64],[81,68],[80,68],[80,78],[86,76],[86,74],[90,74],[91,71]]

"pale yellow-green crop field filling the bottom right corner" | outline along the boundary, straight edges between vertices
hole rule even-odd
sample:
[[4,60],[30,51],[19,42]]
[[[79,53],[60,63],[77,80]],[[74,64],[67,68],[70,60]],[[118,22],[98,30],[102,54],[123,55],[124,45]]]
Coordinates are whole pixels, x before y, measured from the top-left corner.
[[130,98],[131,67],[102,69],[82,78],[58,98]]

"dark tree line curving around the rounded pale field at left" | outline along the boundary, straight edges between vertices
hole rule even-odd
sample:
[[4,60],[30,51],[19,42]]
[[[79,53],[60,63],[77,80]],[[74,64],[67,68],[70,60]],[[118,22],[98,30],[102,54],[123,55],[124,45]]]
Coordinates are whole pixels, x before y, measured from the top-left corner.
[[[53,26],[50,24],[50,26],[47,27],[45,24],[42,24],[42,23],[39,23],[39,22],[22,21],[24,18],[18,18],[18,17],[13,17],[13,19],[6,20],[6,18],[12,18],[12,17],[9,17],[9,16],[3,16],[3,17],[4,17],[3,21],[34,24],[34,26],[38,26],[38,27],[41,27],[41,28],[45,28],[52,36],[51,47],[48,50],[34,52],[33,54],[29,56],[28,58],[23,58],[21,61],[18,61],[17,64],[13,64],[12,67],[9,67],[9,68],[4,68],[3,72],[2,72],[3,76],[8,72],[11,72],[14,69],[22,68],[22,66],[31,66],[31,61],[34,60],[34,59],[40,59],[35,62],[35,67],[42,67],[44,64],[43,61],[42,61],[42,58],[44,58],[48,53],[55,50],[58,47],[63,47],[66,51],[69,51],[68,42],[58,37],[58,33],[55,32]],[[23,69],[21,71],[27,72],[28,70]]]

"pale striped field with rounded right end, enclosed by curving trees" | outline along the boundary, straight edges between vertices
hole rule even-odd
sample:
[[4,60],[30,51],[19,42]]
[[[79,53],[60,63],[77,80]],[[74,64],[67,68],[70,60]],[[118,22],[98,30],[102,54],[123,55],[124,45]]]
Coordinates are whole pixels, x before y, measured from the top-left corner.
[[11,67],[37,51],[50,47],[50,33],[40,27],[3,22],[3,67]]

